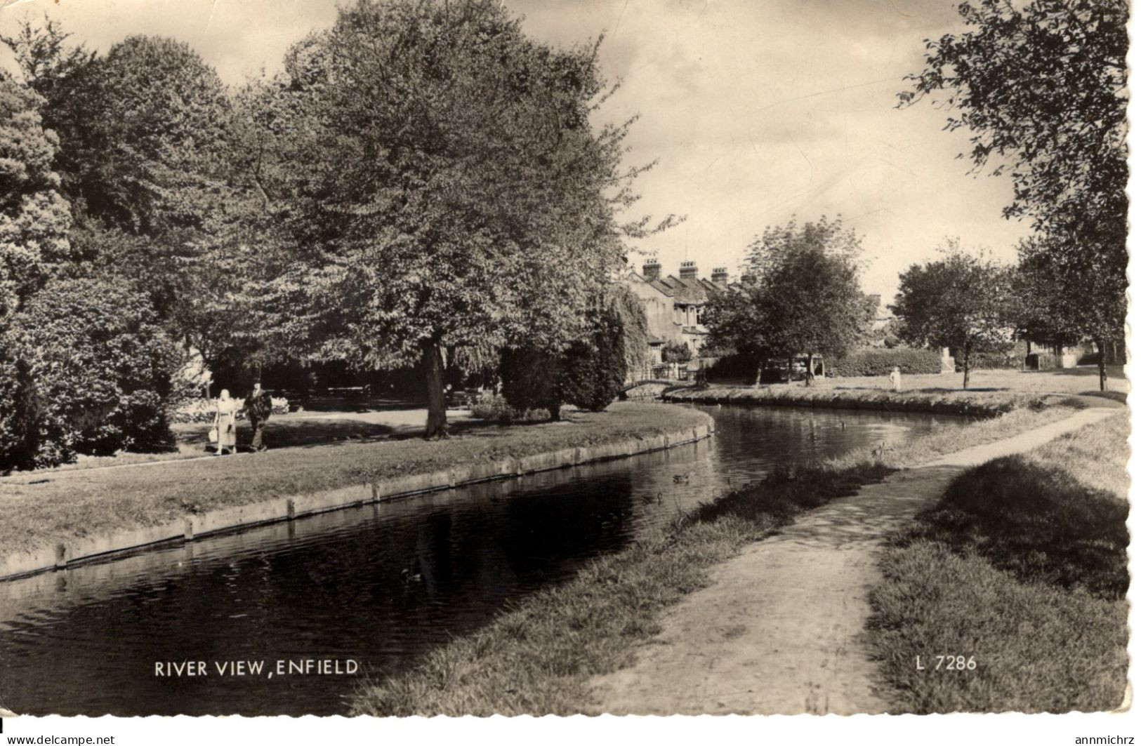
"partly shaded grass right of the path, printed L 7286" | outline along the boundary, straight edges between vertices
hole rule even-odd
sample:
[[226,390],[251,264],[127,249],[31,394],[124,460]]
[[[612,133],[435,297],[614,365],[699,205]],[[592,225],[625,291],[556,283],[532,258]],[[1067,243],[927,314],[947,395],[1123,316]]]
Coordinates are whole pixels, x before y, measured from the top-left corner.
[[[893,537],[869,630],[900,712],[1122,704],[1127,436],[1123,411],[972,469]],[[933,671],[946,654],[977,668]]]

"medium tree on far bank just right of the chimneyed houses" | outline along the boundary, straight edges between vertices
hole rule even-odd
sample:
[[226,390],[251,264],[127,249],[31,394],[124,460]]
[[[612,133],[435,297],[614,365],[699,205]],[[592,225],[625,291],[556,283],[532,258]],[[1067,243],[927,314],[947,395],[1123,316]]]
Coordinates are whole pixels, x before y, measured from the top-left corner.
[[859,290],[860,242],[841,218],[770,226],[753,242],[742,281],[713,298],[706,315],[710,343],[755,351],[761,371],[770,358],[840,357],[863,338],[872,316]]

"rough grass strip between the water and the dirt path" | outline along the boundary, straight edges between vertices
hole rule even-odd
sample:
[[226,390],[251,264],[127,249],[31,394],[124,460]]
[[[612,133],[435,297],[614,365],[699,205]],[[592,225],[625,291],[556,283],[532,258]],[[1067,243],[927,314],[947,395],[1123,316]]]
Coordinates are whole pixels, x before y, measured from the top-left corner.
[[430,654],[412,671],[370,683],[354,711],[377,715],[570,714],[591,676],[632,663],[658,632],[662,610],[707,583],[707,569],[806,510],[855,493],[895,468],[998,440],[1073,410],[1017,410],[937,430],[897,452],[851,454],[775,472],[679,519],[667,530],[590,563],[570,582],[527,598],[482,631]]

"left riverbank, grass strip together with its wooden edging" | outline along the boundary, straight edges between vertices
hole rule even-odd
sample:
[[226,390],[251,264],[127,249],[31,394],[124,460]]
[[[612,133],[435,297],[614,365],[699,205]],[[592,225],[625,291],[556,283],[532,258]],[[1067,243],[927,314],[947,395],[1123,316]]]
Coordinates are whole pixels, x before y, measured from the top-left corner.
[[145,546],[458,486],[672,448],[707,414],[615,404],[561,423],[487,427],[439,441],[284,448],[0,479],[0,579]]

